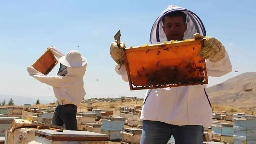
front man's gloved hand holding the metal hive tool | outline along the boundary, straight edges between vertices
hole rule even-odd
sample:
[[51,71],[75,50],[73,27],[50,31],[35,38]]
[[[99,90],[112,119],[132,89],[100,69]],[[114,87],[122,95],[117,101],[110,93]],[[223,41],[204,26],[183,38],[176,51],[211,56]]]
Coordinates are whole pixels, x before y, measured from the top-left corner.
[[110,56],[119,65],[123,65],[123,60],[121,58],[124,55],[125,43],[120,42],[120,47],[117,45],[116,41],[111,43],[110,46]]

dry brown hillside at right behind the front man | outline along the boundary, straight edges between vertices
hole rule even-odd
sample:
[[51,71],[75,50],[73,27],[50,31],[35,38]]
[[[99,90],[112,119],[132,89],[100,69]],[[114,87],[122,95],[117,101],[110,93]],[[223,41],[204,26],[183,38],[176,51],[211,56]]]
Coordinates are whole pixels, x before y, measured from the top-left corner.
[[247,110],[256,108],[256,72],[240,74],[207,90],[212,104]]

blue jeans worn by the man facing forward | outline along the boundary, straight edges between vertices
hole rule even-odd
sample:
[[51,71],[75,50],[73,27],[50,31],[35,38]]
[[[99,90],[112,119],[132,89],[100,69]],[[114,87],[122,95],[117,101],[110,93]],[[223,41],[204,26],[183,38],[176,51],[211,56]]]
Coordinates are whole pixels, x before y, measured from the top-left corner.
[[173,135],[175,144],[202,144],[203,126],[176,126],[158,121],[143,121],[140,144],[167,144]]

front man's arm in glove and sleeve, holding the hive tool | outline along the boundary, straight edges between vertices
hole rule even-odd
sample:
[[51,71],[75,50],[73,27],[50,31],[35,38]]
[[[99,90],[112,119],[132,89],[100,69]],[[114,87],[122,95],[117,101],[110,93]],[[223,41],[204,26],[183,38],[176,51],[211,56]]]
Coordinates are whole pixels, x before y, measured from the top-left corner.
[[[115,71],[118,73],[125,82],[128,82],[128,75],[125,69],[125,65],[121,58],[123,57],[123,49],[125,48],[125,43],[120,42],[120,47],[116,44],[116,42],[112,42],[110,46],[110,56],[116,62]],[[121,65],[121,68],[120,68]],[[120,68],[120,69],[119,69]]]

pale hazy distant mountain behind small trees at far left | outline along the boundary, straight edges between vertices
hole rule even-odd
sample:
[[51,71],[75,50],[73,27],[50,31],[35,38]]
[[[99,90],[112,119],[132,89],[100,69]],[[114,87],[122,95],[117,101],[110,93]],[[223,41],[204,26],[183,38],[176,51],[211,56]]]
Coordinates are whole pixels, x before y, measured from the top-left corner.
[[27,97],[27,96],[0,95],[0,102],[2,102],[5,99],[6,103],[8,103],[10,98],[13,99],[13,102],[15,105],[34,104],[37,101],[37,99],[39,99],[40,104],[48,104],[49,102],[56,101],[55,96]]

